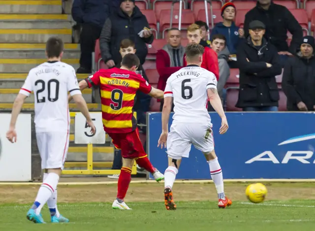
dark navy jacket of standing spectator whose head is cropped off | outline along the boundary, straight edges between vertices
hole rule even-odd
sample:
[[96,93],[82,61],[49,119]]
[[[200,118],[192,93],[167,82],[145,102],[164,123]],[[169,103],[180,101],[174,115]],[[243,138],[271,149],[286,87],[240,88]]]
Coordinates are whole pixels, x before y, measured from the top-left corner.
[[94,24],[102,28],[109,16],[110,0],[74,0],[72,18],[77,23]]

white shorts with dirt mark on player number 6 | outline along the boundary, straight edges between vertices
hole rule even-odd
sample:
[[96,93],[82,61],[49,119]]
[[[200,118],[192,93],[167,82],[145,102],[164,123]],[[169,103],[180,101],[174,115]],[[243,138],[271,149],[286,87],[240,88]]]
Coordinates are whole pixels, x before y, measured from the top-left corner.
[[212,152],[214,141],[211,124],[172,124],[166,143],[168,156],[176,160],[180,160],[182,157],[188,158],[191,144],[201,152]]

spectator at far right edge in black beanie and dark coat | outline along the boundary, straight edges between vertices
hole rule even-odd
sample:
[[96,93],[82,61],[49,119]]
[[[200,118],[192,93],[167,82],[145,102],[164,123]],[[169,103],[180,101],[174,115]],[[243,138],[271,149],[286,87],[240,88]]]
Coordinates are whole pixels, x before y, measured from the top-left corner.
[[314,47],[313,36],[303,37],[301,51],[290,57],[284,66],[282,88],[288,111],[315,110]]

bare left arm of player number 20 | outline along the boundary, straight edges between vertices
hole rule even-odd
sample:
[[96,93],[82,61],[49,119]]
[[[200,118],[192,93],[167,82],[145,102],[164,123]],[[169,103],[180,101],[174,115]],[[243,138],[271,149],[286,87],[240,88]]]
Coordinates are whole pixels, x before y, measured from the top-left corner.
[[22,109],[24,100],[27,98],[26,95],[18,94],[16,99],[14,100],[12,113],[11,113],[11,121],[8,132],[6,132],[6,138],[11,142],[14,143],[17,141],[17,135],[15,131],[16,121],[18,119],[18,115]]

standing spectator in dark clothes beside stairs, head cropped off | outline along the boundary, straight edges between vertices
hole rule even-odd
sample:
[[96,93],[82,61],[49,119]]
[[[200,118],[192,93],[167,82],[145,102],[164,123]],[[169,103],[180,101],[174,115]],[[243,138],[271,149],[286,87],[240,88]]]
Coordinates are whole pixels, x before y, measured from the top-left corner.
[[77,73],[92,73],[92,52],[105,20],[109,16],[107,0],[74,0],[72,18],[82,26],[80,35],[81,57]]

